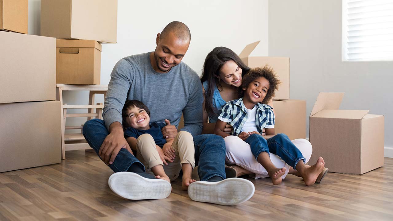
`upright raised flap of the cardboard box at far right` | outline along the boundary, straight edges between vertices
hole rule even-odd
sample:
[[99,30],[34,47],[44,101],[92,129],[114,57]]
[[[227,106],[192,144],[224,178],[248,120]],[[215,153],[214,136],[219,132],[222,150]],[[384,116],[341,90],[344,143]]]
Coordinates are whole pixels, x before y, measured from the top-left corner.
[[310,117],[323,109],[337,110],[343,100],[344,93],[325,93],[320,92],[314,107],[311,110]]

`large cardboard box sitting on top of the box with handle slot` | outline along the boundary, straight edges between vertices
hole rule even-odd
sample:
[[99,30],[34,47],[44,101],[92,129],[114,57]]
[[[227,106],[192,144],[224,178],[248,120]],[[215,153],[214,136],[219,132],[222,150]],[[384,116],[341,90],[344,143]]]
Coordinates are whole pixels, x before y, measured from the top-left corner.
[[41,0],[41,35],[116,43],[117,0]]

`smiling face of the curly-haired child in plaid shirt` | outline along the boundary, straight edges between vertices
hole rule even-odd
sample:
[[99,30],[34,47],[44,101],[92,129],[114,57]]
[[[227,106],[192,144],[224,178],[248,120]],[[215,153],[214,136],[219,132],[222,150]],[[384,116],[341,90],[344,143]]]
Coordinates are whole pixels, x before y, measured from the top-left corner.
[[243,103],[247,109],[252,109],[257,103],[263,101],[269,90],[269,81],[264,77],[258,77],[244,90]]

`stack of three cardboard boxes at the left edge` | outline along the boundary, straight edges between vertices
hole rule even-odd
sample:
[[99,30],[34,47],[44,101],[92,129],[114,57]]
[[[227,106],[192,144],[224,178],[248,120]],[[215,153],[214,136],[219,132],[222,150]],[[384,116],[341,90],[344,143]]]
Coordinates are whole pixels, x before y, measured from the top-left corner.
[[56,39],[27,35],[28,0],[0,0],[0,29],[0,172],[59,163]]

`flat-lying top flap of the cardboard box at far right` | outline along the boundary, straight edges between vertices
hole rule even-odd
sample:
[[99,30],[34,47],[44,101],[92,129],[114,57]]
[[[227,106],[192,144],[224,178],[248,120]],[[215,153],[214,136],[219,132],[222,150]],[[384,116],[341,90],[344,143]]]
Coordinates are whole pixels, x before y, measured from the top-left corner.
[[337,119],[362,119],[369,110],[329,110],[318,111],[314,118],[337,118]]

